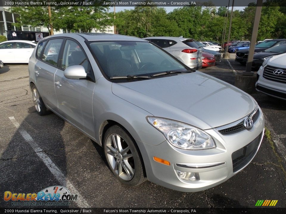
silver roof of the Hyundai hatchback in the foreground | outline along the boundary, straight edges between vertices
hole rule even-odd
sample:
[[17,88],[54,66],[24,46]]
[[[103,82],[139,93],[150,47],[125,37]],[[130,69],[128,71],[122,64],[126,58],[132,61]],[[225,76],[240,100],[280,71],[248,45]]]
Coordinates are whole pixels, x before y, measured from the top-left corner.
[[106,41],[106,40],[122,40],[122,41],[141,41],[146,42],[143,39],[140,39],[138,37],[132,37],[132,36],[125,36],[125,35],[119,35],[119,34],[111,34],[111,33],[64,33],[64,34],[56,34],[52,36],[45,37],[44,39],[48,39],[51,37],[70,37],[70,38],[78,38],[83,37],[85,40],[88,41]]

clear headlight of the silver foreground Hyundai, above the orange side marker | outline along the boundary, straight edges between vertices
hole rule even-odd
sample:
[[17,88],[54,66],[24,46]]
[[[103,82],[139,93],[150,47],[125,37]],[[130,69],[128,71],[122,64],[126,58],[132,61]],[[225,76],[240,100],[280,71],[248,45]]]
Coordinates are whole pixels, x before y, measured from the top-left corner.
[[215,148],[215,142],[208,133],[191,125],[160,117],[146,117],[174,147],[184,150]]

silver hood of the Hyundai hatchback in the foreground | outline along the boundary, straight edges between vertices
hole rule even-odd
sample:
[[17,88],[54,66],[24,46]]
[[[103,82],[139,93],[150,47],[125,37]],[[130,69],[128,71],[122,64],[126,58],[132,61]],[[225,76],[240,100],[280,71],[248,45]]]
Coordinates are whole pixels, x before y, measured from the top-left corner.
[[150,115],[175,119],[204,130],[241,119],[257,105],[240,89],[198,71],[112,83],[112,92]]

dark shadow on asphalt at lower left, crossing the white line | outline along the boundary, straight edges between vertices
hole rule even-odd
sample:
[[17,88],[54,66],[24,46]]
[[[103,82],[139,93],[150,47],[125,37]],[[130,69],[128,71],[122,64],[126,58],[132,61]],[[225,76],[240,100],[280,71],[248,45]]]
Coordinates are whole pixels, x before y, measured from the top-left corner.
[[[49,186],[66,187],[66,181],[60,182],[55,179],[59,175],[52,174],[42,160],[45,155],[49,157],[66,177],[65,144],[61,136],[64,121],[55,114],[41,117],[36,113],[34,106],[29,108],[28,112],[28,116],[22,122],[19,118],[13,117],[14,125],[10,115],[6,116],[11,120],[7,128],[9,127],[14,135],[10,142],[2,143],[6,148],[0,157],[0,195],[2,196],[0,207],[31,207],[12,206],[12,200],[7,202],[3,200],[5,191],[27,194],[38,193]],[[18,123],[19,127],[15,127],[15,123]],[[46,164],[47,162],[49,160],[46,160]]]

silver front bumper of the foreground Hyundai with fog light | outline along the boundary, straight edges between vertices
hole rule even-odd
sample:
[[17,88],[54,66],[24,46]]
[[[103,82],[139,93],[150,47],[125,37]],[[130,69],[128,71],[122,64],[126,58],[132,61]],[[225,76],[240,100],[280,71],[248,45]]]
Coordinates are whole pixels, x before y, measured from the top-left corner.
[[[177,191],[196,192],[214,187],[244,169],[260,147],[264,125],[260,110],[258,119],[250,130],[229,135],[222,135],[217,129],[205,130],[216,143],[216,148],[206,150],[182,150],[167,141],[157,146],[137,140],[136,142],[142,153],[149,181]],[[251,144],[254,141],[255,143]],[[237,159],[235,154],[244,150],[248,155],[245,158],[247,160]],[[153,157],[169,161],[170,166],[154,161]],[[240,166],[237,168],[237,165]],[[183,180],[179,178],[176,170],[198,173],[199,180]]]

